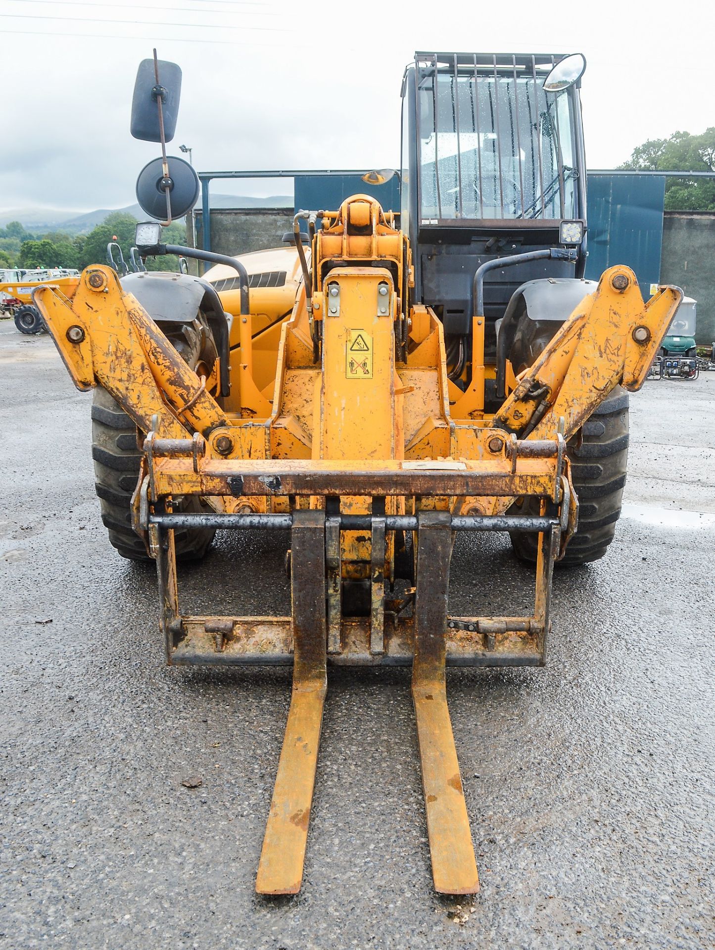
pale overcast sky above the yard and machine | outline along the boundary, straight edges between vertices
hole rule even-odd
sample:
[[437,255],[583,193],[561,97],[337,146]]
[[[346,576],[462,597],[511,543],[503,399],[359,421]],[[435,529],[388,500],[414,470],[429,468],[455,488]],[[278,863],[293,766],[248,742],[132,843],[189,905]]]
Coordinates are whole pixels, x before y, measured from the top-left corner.
[[[135,200],[159,154],[129,135],[139,61],[183,70],[177,135],[199,171],[399,163],[400,83],[415,49],[583,52],[590,168],[676,129],[715,125],[707,3],[510,0],[0,0],[0,209]],[[222,192],[290,193],[281,181]]]

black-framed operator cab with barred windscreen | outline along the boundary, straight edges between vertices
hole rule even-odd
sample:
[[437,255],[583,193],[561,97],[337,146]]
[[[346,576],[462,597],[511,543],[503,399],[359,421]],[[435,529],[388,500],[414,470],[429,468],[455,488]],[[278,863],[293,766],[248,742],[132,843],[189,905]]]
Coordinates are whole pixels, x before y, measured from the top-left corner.
[[[578,61],[576,72],[567,60]],[[546,91],[544,80],[559,64],[567,83]],[[583,277],[584,68],[578,54],[418,52],[405,70],[402,228],[412,245],[415,299],[441,318],[453,362],[456,352],[468,352],[472,281],[484,262],[566,243],[577,252],[573,260],[524,261],[486,276],[487,364],[495,362],[497,321],[517,288],[535,278]]]

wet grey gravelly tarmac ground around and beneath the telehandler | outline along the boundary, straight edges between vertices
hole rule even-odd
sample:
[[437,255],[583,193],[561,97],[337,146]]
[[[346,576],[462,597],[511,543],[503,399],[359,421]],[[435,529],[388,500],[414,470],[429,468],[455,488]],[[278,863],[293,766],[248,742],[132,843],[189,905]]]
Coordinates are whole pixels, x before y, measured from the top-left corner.
[[[0,946],[715,946],[715,373],[632,397],[627,517],[557,574],[546,669],[449,673],[462,902],[431,887],[399,670],[331,672],[303,890],[254,895],[290,671],[164,667],[154,573],[105,541],[90,397],[8,321],[0,378]],[[224,538],[184,602],[286,610],[284,547]],[[500,536],[452,573],[479,610],[529,577]]]

